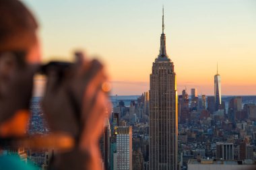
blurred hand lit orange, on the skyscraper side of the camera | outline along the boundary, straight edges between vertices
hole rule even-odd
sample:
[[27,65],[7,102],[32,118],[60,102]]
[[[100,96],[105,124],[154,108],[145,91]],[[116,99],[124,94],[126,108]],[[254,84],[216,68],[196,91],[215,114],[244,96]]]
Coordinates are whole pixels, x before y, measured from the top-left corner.
[[[86,87],[82,94],[82,134],[79,142],[81,148],[88,148],[98,142],[100,135],[103,132],[104,122],[110,114],[110,99],[108,92],[110,91],[110,84],[106,77],[104,67],[98,60],[88,60],[84,54],[76,54],[78,60],[82,61],[83,66],[80,67],[77,74],[77,84],[80,88]],[[83,83],[81,77],[90,77],[86,83]],[[81,81],[79,83],[79,81]],[[79,94],[79,88],[73,84],[73,91]]]

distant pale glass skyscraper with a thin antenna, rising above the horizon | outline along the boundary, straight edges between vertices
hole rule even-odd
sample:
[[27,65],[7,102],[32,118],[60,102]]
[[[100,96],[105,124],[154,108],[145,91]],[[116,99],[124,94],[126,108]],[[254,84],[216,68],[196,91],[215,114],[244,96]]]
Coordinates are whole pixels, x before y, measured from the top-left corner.
[[217,74],[214,76],[214,97],[215,97],[215,110],[220,109],[222,104],[222,87],[220,82],[220,75],[218,74],[218,65],[217,65]]

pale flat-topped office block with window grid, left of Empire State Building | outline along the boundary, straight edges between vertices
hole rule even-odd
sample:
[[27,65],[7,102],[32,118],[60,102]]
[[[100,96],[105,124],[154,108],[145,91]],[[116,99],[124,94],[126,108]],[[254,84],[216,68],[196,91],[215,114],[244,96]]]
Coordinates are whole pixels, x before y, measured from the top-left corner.
[[[131,126],[116,127],[117,153],[114,160],[114,169],[132,170],[132,131]],[[115,159],[115,156],[114,156]]]

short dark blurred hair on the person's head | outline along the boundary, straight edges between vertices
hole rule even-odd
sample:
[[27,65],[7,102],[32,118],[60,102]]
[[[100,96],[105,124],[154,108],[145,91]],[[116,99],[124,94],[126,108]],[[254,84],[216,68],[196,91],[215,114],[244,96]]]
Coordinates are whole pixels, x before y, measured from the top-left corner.
[[18,0],[0,0],[0,52],[28,50],[36,42],[38,24]]

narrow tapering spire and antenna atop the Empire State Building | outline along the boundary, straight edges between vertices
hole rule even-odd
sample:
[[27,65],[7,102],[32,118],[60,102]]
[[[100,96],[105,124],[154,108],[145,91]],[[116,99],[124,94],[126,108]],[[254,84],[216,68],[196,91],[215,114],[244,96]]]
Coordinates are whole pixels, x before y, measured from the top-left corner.
[[163,7],[162,8],[162,34],[160,38],[160,51],[159,51],[158,59],[168,59],[165,40],[166,40],[166,37],[164,34],[164,7]]

